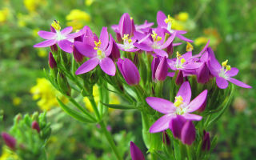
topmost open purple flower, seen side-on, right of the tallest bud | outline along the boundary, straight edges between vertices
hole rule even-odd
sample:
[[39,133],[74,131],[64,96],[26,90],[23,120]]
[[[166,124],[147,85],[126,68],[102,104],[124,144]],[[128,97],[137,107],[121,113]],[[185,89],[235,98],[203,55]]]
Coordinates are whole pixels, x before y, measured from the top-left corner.
[[158,26],[161,27],[162,29],[166,30],[167,33],[169,33],[169,34],[176,33],[175,36],[180,38],[181,40],[186,41],[186,42],[193,42],[192,40],[185,38],[184,36],[181,35],[181,34],[186,34],[185,30],[172,30],[171,29],[172,19],[170,18],[169,14],[168,14],[168,17],[166,17],[166,14],[164,14],[161,10],[158,11],[157,22],[158,22]]

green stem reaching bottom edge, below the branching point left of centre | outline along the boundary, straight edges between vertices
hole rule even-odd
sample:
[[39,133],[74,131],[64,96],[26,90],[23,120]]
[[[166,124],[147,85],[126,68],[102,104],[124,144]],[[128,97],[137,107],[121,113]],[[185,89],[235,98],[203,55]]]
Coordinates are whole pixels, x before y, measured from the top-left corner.
[[120,156],[119,151],[118,151],[117,147],[114,144],[114,140],[111,137],[110,132],[106,129],[106,124],[101,121],[101,122],[99,122],[99,125],[101,126],[102,132],[105,135],[107,142],[109,142],[111,149],[114,151],[114,154],[115,154],[116,158],[118,160],[122,160],[122,157]]

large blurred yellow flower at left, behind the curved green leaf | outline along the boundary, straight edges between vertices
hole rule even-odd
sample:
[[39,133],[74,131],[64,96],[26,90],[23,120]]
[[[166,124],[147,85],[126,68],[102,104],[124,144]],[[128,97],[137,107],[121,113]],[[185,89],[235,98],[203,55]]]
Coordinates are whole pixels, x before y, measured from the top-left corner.
[[37,84],[30,89],[33,99],[38,100],[37,104],[41,110],[50,110],[54,106],[58,106],[56,97],[66,103],[68,100],[54,89],[54,86],[46,78],[37,78]]

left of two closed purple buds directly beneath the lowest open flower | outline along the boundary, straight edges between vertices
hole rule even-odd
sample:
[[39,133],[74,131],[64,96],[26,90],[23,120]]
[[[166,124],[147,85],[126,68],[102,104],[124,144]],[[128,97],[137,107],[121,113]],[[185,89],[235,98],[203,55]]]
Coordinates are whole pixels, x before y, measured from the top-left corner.
[[181,138],[182,126],[186,122],[186,119],[181,115],[177,115],[176,118],[173,118],[170,121],[170,130],[174,134],[174,138]]

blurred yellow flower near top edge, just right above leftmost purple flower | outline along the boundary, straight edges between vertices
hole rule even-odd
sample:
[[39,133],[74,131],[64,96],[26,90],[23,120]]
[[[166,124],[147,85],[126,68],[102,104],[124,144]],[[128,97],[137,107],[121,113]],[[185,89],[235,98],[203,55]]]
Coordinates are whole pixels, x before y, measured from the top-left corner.
[[67,26],[73,26],[74,30],[80,30],[90,22],[90,15],[82,10],[71,10],[70,14],[66,16]]

